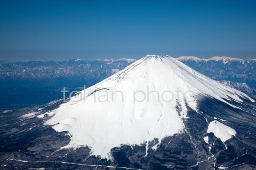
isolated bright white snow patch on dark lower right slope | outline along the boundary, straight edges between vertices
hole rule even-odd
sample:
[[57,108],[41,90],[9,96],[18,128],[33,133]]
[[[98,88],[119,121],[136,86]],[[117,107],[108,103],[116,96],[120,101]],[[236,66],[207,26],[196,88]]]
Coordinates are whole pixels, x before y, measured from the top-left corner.
[[214,120],[209,124],[207,133],[210,132],[214,133],[215,137],[221,139],[222,142],[236,136],[236,131],[234,129],[217,120]]

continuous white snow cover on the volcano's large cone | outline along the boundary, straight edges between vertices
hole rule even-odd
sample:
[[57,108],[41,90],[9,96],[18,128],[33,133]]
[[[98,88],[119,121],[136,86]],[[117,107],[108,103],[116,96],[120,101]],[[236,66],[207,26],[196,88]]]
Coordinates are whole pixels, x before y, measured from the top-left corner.
[[[152,92],[143,95],[148,91]],[[239,108],[231,104],[234,101],[254,102],[170,56],[147,55],[61,104],[49,113],[54,116],[46,124],[69,132],[71,141],[63,148],[88,146],[91,155],[111,159],[110,150],[121,144],[158,139],[152,147],[156,149],[163,138],[184,133],[187,107],[196,111],[197,98],[202,96],[234,108]]]

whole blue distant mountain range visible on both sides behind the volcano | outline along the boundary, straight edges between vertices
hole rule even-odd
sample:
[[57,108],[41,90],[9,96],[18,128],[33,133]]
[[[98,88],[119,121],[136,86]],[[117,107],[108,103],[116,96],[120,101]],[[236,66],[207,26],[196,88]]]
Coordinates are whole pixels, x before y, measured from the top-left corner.
[[[256,91],[256,59],[194,56],[177,58],[194,70],[248,94]],[[61,98],[69,92],[90,87],[135,62],[135,59],[65,61],[0,61],[0,108],[27,107]],[[225,81],[224,81],[225,80]],[[67,92],[66,95],[69,93]]]

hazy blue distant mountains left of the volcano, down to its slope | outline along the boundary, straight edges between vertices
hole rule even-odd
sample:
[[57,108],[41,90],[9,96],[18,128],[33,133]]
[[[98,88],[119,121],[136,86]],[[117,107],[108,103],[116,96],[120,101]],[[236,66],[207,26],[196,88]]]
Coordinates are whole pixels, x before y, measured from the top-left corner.
[[[0,61],[0,108],[29,107],[63,97],[61,89],[81,90],[127,67],[135,59]],[[66,95],[69,95],[66,92]]]

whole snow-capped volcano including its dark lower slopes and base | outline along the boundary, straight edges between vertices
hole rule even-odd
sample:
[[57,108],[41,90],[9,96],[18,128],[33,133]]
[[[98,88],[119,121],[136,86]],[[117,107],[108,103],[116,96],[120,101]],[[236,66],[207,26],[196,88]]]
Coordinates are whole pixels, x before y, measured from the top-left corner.
[[170,56],[147,55],[66,102],[0,116],[2,167],[256,167],[255,99]]

